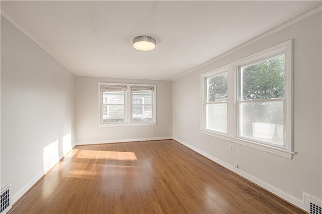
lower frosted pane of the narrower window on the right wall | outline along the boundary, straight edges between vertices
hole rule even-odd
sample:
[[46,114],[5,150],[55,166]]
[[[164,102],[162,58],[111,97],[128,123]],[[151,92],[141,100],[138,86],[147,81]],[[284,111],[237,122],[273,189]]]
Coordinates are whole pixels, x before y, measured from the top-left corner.
[[227,103],[206,104],[206,129],[227,133]]

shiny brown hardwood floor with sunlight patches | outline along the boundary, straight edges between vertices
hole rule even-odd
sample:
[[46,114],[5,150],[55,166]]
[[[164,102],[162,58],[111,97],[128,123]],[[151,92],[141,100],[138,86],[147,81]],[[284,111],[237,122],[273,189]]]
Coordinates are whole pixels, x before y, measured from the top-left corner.
[[305,213],[173,140],[76,146],[9,213]]

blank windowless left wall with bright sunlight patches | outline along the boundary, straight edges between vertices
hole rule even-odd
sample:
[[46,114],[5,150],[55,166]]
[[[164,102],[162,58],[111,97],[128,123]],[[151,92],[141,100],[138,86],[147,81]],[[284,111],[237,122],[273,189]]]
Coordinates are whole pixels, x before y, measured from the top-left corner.
[[1,19],[1,187],[15,202],[72,147],[74,75]]

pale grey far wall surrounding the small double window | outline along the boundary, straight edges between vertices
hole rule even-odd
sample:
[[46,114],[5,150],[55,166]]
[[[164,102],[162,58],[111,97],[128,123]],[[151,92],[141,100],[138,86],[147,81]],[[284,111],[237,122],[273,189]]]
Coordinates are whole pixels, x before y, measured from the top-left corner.
[[[98,83],[156,85],[156,125],[98,127]],[[75,77],[76,144],[172,138],[172,81]]]

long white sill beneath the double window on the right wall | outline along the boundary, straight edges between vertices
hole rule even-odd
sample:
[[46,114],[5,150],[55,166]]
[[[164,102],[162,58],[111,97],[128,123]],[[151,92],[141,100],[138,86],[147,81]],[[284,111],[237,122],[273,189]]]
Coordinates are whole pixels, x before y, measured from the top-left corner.
[[251,147],[251,148],[254,148],[254,149],[258,149],[258,150],[261,150],[261,151],[265,151],[265,152],[275,154],[275,155],[278,155],[278,156],[282,156],[282,157],[285,157],[285,158],[289,158],[289,159],[292,159],[293,155],[295,154],[295,152],[291,152],[291,151],[288,151],[286,149],[276,148],[276,147],[273,147],[273,146],[264,145],[264,144],[260,144],[260,143],[256,143],[256,142],[236,138],[236,137],[231,137],[231,136],[224,135],[224,134],[218,134],[218,133],[211,132],[211,131],[208,131],[208,130],[201,129],[200,131],[201,131],[202,134],[205,134],[205,135],[210,135],[212,137],[216,137],[216,138],[227,140],[227,141],[230,141],[230,142],[233,142],[233,143],[245,145],[245,146],[248,146],[248,147]]

